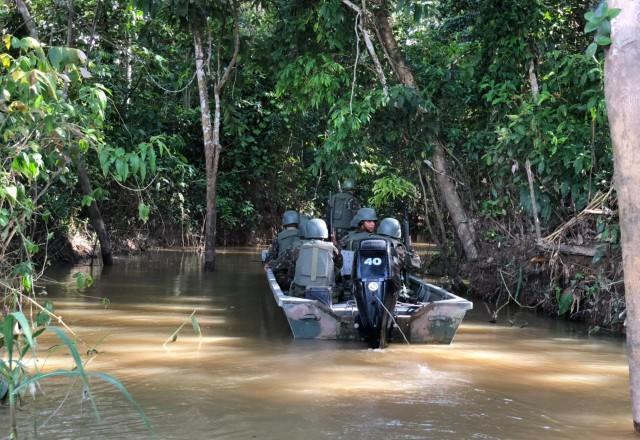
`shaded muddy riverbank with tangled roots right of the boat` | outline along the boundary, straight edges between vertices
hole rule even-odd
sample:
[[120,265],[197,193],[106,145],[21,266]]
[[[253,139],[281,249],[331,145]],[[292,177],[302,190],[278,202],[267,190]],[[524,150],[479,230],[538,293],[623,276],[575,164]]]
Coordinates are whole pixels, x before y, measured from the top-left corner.
[[591,333],[624,334],[625,300],[619,249],[601,258],[544,250],[535,240],[481,243],[481,257],[450,267],[427,255],[425,274],[444,276],[448,288],[472,296],[492,320],[504,319],[509,304],[542,311],[561,320],[581,321]]

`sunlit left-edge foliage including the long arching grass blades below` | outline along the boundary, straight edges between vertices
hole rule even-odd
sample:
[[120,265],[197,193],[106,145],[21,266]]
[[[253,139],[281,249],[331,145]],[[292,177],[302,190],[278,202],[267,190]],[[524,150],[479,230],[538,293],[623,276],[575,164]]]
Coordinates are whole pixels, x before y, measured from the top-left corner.
[[[29,351],[37,356],[37,338],[54,310],[51,302],[39,305],[36,297],[41,271],[34,259],[52,237],[38,231],[46,231],[56,211],[48,202],[52,194],[73,193],[75,158],[90,152],[100,155],[108,148],[103,137],[108,91],[100,84],[85,83],[90,77],[86,61],[78,49],[52,47],[45,54],[43,45],[31,37],[5,36],[0,47],[0,279],[1,302],[5,310],[10,307],[0,321],[0,382],[7,385],[9,405],[15,408],[26,391],[35,395],[35,384],[46,378],[80,377],[99,416],[89,374],[75,344],[60,328],[48,327],[69,349],[73,370],[40,373],[37,365],[32,367],[24,360]],[[145,163],[155,154],[150,150],[145,150]],[[162,153],[162,146],[159,151]],[[130,174],[139,177],[140,161],[131,157]],[[124,181],[128,176],[119,177]],[[98,189],[75,202],[90,204],[99,194]],[[74,277],[79,288],[93,283],[84,274]],[[29,303],[37,307],[37,314],[26,316],[21,311]],[[99,376],[132,400],[115,378]],[[144,418],[143,413],[141,416]],[[11,434],[17,435],[15,429]]]

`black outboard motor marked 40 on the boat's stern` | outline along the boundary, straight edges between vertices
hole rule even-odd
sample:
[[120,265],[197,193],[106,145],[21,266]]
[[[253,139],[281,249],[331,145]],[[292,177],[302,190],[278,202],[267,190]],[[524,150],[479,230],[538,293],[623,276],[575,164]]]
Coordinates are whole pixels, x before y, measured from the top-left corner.
[[384,348],[393,324],[398,284],[387,240],[362,240],[353,262],[353,294],[358,305],[356,323],[371,348]]

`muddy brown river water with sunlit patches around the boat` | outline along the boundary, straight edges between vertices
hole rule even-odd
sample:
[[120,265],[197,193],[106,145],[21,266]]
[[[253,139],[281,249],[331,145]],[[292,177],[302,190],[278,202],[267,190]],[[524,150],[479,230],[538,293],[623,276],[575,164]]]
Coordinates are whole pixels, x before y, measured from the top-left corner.
[[[476,304],[449,346],[293,341],[255,250],[223,251],[217,269],[157,252],[48,273],[79,350],[97,351],[86,369],[120,379],[155,438],[633,438],[622,339],[522,313],[490,324]],[[95,284],[79,291],[76,272]],[[40,342],[45,369],[73,365],[57,344]],[[154,438],[108,383],[92,380],[100,421],[79,383],[52,379],[42,391],[24,401],[21,438]]]

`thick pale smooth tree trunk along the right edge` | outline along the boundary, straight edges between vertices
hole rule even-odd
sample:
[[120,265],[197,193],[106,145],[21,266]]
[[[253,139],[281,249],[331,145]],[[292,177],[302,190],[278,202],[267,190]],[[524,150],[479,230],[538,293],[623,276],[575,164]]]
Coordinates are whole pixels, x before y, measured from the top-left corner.
[[610,0],[609,6],[622,10],[613,20],[604,77],[622,238],[631,406],[640,432],[640,2]]

